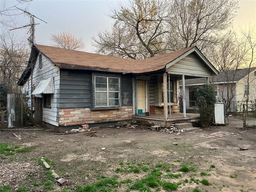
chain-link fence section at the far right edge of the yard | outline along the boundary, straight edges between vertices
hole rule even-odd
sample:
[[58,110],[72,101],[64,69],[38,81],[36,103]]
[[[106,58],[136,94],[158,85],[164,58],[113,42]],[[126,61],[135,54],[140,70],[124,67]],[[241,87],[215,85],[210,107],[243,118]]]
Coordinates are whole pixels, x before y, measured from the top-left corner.
[[256,127],[256,103],[243,104],[244,127]]

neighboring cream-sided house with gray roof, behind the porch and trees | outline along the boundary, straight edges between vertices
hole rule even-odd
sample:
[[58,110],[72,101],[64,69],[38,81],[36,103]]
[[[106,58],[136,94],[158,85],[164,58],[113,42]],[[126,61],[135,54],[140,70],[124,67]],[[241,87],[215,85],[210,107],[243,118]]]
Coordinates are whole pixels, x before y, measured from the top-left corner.
[[[204,78],[186,79],[186,109],[193,110],[196,105],[194,95],[198,86],[205,84]],[[242,103],[256,101],[256,67],[222,71],[212,76],[217,102],[225,102],[228,112],[242,110]]]

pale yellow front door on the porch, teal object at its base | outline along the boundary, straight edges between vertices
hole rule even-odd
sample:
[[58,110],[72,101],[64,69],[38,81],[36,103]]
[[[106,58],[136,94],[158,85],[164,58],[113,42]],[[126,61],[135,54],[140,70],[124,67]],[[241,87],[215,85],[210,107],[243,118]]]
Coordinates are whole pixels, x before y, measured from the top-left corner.
[[137,114],[146,112],[146,81],[137,81]]

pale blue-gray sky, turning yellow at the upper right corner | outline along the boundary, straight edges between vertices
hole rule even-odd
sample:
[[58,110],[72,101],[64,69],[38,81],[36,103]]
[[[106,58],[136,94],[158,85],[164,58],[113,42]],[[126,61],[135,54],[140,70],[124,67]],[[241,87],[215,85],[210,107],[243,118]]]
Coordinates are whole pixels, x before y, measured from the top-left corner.
[[[97,37],[97,33],[102,30],[110,29],[113,20],[108,16],[110,8],[118,5],[118,2],[127,3],[126,0],[33,0],[29,4],[19,4],[19,8],[26,8],[31,14],[44,20],[36,19],[35,37],[37,44],[50,45],[51,34],[69,31],[77,38],[82,38],[86,47],[85,52],[94,52],[92,46],[92,36]],[[8,8],[17,4],[14,0],[0,0],[0,9]],[[256,0],[240,0],[234,28],[245,28],[250,23],[256,24]],[[16,10],[10,13],[18,13]],[[0,15],[2,20],[10,18]],[[13,16],[16,27],[29,24],[28,16],[20,14]],[[10,29],[10,28],[9,28]],[[16,38],[27,38],[29,28],[12,30]],[[1,34],[4,27],[1,26]]]

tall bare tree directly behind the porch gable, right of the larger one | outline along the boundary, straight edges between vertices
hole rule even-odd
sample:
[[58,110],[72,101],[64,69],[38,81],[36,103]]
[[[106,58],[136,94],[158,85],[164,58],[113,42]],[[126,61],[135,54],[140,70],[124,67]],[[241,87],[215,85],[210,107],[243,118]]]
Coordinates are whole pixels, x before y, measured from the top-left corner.
[[220,42],[219,34],[230,26],[237,8],[237,0],[173,0],[170,45],[178,50],[194,45],[204,50]]

